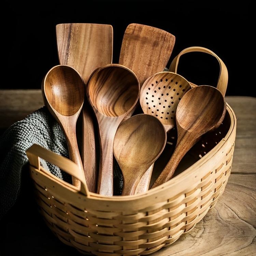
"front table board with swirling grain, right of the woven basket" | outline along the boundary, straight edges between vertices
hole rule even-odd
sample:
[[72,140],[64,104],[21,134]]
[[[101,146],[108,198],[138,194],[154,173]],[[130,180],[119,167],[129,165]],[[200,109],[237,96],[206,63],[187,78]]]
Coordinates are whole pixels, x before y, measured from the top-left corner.
[[255,182],[256,174],[231,174],[223,195],[195,229],[152,256],[255,255]]

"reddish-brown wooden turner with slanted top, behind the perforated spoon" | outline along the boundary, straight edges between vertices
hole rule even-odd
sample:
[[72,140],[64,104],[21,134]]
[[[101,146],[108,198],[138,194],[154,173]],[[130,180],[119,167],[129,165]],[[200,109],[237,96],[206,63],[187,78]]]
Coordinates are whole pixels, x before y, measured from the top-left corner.
[[[166,68],[174,43],[175,36],[162,29],[129,24],[124,33],[119,64],[131,69],[142,86],[148,77]],[[124,120],[133,114],[135,108]]]

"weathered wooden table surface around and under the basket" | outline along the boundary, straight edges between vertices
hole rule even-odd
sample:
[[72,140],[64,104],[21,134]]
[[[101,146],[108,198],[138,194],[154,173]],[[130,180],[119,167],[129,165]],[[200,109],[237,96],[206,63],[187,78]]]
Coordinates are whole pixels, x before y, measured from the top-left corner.
[[[256,255],[256,98],[225,98],[237,117],[233,162],[225,191],[190,233],[152,256]],[[1,133],[43,105],[41,90],[0,90]],[[82,255],[48,229],[32,196],[28,197],[26,175],[17,202],[0,222],[4,236],[0,255]]]

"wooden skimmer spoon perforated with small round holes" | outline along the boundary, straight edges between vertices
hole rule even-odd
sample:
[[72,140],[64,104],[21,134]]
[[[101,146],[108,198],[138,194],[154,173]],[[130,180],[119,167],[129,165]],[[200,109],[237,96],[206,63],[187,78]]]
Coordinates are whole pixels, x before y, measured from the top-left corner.
[[[170,131],[176,124],[176,109],[183,95],[191,89],[189,82],[172,72],[159,72],[149,77],[140,90],[140,105],[145,114],[157,117]],[[138,193],[148,190],[153,165],[148,168],[138,185]]]

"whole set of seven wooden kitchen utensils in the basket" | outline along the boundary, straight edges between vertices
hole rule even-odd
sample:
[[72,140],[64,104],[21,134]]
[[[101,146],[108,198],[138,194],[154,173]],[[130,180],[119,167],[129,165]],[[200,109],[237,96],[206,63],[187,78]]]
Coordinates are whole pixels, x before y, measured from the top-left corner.
[[[122,195],[147,191],[154,162],[166,145],[167,132],[176,125],[175,151],[152,188],[159,186],[172,178],[182,157],[201,136],[222,123],[225,92],[206,85],[191,88],[176,70],[163,72],[172,53],[174,35],[130,24],[118,64],[112,64],[111,25],[59,24],[56,35],[60,65],[45,75],[42,94],[65,134],[70,159],[85,176],[85,190],[113,196],[114,156],[123,173]],[[132,115],[138,106],[143,114]],[[76,139],[80,113],[82,156]],[[81,188],[81,182],[73,176],[72,182]]]

